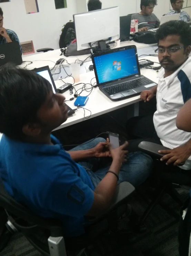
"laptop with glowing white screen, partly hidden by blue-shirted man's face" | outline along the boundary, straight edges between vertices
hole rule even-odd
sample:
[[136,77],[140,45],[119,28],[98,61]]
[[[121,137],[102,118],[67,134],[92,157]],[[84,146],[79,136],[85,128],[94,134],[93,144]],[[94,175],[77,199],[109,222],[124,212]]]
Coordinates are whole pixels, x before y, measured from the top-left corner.
[[[41,68],[37,68],[37,69],[33,69],[37,74],[39,74],[40,76],[42,76],[43,78],[47,79],[51,86],[52,86],[52,90],[54,93],[57,92],[57,88],[56,88],[56,85],[54,83],[54,80],[53,80],[53,77],[52,77],[52,74],[51,74],[51,71],[50,71],[50,68],[49,66],[44,66],[44,67],[41,67]],[[66,104],[67,105],[67,104]],[[73,115],[75,112],[73,111],[73,109],[71,109],[68,105],[68,116],[71,116]]]

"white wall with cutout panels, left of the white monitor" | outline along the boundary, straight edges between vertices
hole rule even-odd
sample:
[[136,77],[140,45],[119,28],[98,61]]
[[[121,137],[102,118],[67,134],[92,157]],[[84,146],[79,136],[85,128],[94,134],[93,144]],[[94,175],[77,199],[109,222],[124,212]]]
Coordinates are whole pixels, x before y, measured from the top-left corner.
[[[78,0],[77,0],[78,1]],[[77,13],[76,0],[67,0],[68,8],[56,10],[54,0],[38,0],[39,12],[26,14],[24,0],[0,3],[4,27],[14,30],[20,42],[33,41],[34,49],[59,48],[61,29]]]

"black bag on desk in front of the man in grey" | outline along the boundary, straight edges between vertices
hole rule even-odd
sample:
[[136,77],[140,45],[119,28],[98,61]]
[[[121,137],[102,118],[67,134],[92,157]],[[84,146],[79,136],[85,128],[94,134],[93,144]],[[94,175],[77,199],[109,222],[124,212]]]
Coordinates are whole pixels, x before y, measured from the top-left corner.
[[155,39],[156,32],[153,31],[140,31],[135,33],[133,36],[133,40],[138,43],[143,44],[155,44],[157,40]]

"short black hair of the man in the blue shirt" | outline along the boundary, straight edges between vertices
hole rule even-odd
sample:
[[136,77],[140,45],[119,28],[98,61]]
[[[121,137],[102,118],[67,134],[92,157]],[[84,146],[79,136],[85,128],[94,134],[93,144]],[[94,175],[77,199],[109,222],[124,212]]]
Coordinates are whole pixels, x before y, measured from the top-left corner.
[[37,121],[37,111],[52,86],[34,71],[6,64],[0,68],[0,132],[23,140],[23,125]]

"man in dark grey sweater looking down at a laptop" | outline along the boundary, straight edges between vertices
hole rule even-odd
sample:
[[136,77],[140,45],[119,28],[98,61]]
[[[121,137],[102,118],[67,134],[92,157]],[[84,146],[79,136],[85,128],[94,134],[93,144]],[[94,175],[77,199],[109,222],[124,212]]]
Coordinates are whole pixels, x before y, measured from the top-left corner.
[[141,11],[131,16],[132,19],[138,19],[139,31],[159,27],[160,20],[153,14],[153,9],[156,5],[157,0],[141,0]]

